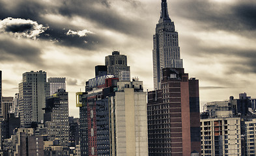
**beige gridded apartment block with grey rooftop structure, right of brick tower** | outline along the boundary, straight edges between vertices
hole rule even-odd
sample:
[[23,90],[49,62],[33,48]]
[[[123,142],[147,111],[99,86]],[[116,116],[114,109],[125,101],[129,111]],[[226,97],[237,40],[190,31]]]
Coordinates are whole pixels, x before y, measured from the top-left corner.
[[200,120],[202,155],[242,155],[241,119],[233,116],[229,102],[206,103],[205,113]]

